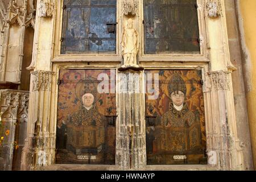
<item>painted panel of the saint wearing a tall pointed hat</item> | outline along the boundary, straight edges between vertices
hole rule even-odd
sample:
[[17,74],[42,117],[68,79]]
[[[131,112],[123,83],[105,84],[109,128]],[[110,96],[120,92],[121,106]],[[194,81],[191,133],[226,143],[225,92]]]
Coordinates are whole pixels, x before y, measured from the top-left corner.
[[201,71],[147,73],[159,75],[159,97],[146,95],[147,164],[207,164]]

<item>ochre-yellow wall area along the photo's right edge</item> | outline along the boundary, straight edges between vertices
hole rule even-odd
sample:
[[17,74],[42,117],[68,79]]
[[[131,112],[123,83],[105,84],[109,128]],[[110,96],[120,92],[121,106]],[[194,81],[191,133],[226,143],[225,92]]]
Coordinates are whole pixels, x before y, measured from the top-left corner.
[[[247,86],[247,107],[250,123],[251,146],[253,149],[254,167],[256,167],[256,1],[240,0],[240,13],[244,34],[245,46],[245,64],[249,65],[245,70],[247,80],[250,81]],[[243,32],[242,32],[243,33]],[[248,57],[247,57],[248,56]],[[245,77],[245,78],[246,78]],[[248,79],[249,78],[249,79]],[[243,109],[243,108],[241,108]]]

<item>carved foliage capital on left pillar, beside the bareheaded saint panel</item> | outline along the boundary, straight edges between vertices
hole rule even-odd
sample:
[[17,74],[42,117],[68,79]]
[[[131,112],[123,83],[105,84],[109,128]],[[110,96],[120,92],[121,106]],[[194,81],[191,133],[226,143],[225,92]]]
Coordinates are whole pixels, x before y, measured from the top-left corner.
[[35,71],[32,76],[32,91],[51,90],[53,72]]

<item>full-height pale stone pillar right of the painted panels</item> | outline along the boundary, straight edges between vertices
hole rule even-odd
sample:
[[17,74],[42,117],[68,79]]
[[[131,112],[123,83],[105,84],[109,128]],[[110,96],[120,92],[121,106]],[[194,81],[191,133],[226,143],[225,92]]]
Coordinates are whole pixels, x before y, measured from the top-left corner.
[[[209,163],[222,170],[243,169],[243,143],[237,137],[236,113],[231,73],[225,3],[207,0],[205,18],[208,30],[210,71],[205,73],[207,150]],[[211,113],[211,114],[209,114]]]

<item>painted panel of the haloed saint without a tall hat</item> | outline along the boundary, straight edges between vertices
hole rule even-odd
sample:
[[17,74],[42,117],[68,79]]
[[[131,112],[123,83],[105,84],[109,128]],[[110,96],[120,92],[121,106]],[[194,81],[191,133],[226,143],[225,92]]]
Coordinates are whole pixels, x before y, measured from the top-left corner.
[[104,69],[60,71],[57,164],[115,163],[115,94],[98,92],[102,73],[110,76]]

